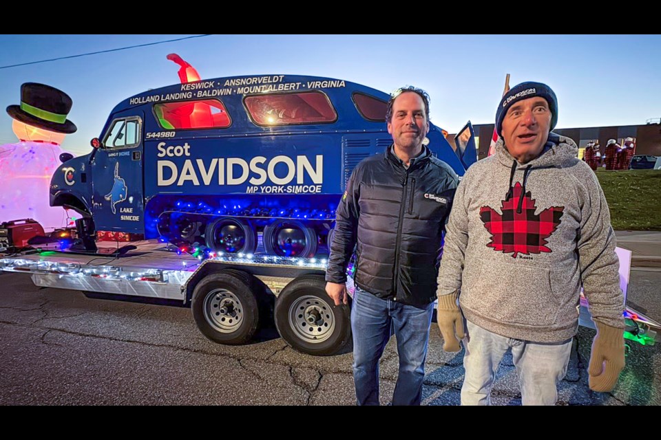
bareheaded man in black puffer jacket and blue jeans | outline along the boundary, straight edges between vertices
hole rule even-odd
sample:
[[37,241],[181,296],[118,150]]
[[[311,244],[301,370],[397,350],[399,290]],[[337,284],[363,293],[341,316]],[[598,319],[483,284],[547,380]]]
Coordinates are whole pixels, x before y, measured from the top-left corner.
[[346,267],[357,244],[351,309],[359,405],[379,404],[379,359],[395,329],[399,377],[392,404],[419,405],[445,219],[457,175],[432,156],[429,97],[415,87],[390,97],[392,146],[353,170],[337,207],[326,292],[347,304]]

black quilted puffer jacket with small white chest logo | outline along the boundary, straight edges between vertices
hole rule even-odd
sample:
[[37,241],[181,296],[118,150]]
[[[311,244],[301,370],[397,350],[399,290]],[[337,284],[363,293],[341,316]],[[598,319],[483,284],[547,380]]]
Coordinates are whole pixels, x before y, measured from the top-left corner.
[[416,307],[436,299],[441,234],[458,179],[424,148],[408,169],[389,147],[353,170],[337,206],[326,281],[346,282],[357,243],[361,289]]

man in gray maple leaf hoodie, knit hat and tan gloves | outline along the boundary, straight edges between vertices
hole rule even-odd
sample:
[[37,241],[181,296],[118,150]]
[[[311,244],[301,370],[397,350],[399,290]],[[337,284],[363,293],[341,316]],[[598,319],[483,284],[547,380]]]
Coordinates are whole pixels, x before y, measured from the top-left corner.
[[471,166],[457,188],[437,295],[445,351],[460,350],[462,311],[468,321],[463,405],[490,404],[510,348],[523,404],[556,403],[581,286],[597,327],[590,388],[610,391],[624,368],[624,296],[608,206],[574,141],[551,132],[557,120],[547,85],[513,87],[496,112],[496,153]]

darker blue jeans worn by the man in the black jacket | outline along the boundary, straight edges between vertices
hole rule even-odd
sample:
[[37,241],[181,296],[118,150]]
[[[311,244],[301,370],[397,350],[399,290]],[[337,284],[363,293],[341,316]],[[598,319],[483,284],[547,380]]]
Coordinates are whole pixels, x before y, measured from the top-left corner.
[[359,405],[379,404],[379,359],[395,329],[399,376],[393,405],[419,405],[434,303],[425,309],[382,300],[356,286],[351,305],[353,380]]

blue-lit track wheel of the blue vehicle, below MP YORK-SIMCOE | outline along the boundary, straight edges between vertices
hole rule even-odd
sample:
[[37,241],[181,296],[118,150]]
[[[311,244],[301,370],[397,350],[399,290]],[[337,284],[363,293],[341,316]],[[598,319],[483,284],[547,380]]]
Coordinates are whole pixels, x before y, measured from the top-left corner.
[[271,255],[312,257],[317,232],[297,220],[276,220],[264,228],[264,249]]

